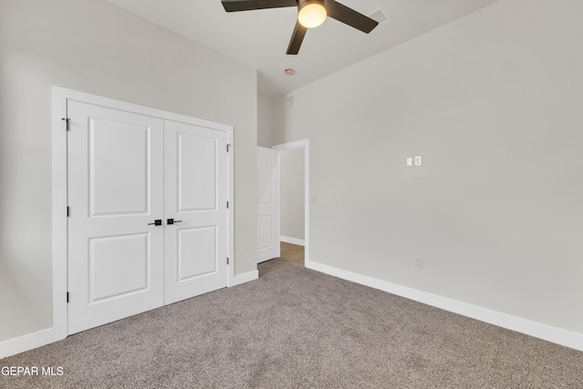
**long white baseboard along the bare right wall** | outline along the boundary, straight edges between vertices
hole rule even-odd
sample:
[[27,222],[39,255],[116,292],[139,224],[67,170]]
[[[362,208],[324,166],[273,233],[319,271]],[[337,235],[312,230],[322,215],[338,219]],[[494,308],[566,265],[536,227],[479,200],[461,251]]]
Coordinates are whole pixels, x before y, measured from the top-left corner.
[[445,311],[455,312],[481,322],[488,322],[508,330],[525,333],[548,342],[583,351],[583,334],[581,333],[573,333],[540,322],[533,322],[507,313],[493,311],[466,302],[459,302],[433,293],[418,291],[396,283],[385,282],[314,261],[306,262],[305,266],[314,271],[321,271],[334,277],[342,278],[343,280],[360,283],[374,289],[414,300],[415,302],[423,302],[424,304],[432,305]]

